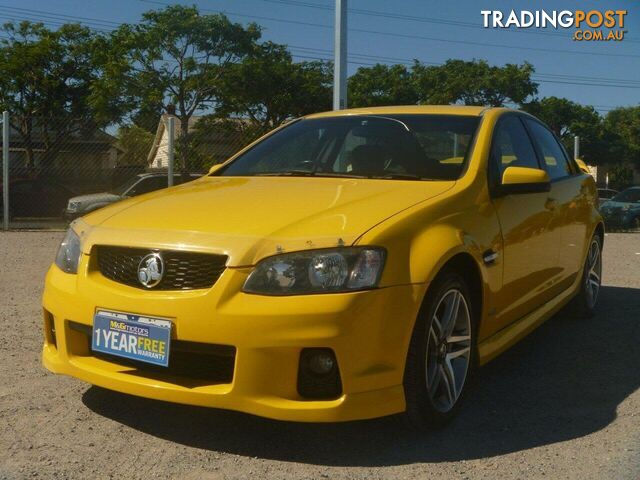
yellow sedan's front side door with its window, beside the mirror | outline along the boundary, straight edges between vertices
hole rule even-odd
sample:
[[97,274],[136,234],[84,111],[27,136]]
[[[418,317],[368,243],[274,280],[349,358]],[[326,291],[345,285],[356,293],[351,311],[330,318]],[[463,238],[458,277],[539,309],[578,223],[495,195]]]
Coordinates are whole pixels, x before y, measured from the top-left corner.
[[[519,115],[498,121],[491,144],[489,185],[500,184],[507,167],[542,168]],[[558,232],[547,192],[493,195],[503,238],[503,282],[494,305],[495,330],[504,328],[552,297],[559,275]]]

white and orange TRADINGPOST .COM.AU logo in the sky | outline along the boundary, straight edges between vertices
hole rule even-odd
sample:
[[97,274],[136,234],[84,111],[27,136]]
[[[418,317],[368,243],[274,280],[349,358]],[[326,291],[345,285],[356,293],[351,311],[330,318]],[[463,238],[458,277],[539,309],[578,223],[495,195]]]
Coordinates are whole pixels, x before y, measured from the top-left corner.
[[621,42],[627,10],[481,10],[484,28],[573,29],[573,40]]

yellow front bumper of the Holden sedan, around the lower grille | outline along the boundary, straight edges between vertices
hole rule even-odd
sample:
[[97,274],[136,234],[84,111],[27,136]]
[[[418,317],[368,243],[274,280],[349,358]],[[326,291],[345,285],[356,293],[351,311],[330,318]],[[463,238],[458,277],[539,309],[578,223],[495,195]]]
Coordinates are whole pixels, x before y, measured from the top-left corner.
[[[83,255],[78,275],[55,266],[47,274],[45,324],[52,323],[55,341],[45,335],[43,363],[54,373],[132,395],[280,420],[345,421],[405,409],[404,364],[425,285],[268,297],[241,293],[250,269],[228,268],[209,290],[153,292],[108,280],[89,263]],[[91,326],[97,308],[170,318],[176,340],[235,347],[233,379],[194,384],[93,355],[77,324]],[[312,347],[335,352],[339,398],[299,395],[300,351]]]

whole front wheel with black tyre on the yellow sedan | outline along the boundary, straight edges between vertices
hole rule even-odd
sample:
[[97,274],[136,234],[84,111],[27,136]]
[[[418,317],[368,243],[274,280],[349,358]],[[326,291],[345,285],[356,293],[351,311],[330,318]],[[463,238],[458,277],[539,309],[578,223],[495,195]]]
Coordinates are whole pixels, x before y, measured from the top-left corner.
[[457,411],[476,357],[469,288],[456,272],[439,275],[414,327],[404,376],[406,416],[439,427]]

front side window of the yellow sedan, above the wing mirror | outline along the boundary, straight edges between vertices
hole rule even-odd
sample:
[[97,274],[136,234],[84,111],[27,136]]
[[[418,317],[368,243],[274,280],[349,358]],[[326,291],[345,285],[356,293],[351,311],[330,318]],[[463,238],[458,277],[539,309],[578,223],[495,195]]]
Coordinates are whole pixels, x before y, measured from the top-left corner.
[[497,185],[507,167],[540,168],[524,126],[515,116],[500,120],[491,142],[491,183]]

